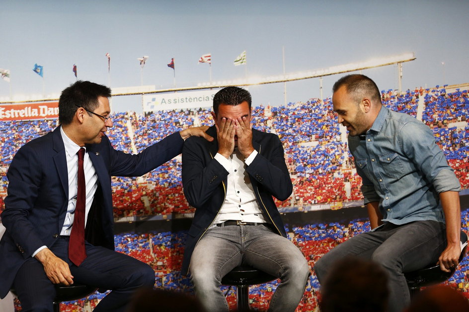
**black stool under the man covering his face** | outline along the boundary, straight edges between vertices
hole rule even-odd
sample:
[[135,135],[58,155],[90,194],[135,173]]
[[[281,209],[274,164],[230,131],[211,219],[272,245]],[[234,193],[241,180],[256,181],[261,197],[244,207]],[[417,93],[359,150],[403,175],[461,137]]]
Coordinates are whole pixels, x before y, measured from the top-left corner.
[[249,286],[264,284],[277,277],[255,269],[249,265],[236,266],[222,278],[222,285],[236,286],[238,311],[249,310]]

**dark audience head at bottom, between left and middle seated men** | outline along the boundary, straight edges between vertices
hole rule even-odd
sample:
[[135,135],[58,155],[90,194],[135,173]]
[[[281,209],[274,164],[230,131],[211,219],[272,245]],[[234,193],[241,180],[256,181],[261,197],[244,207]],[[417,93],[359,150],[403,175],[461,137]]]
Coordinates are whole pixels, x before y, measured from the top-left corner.
[[187,294],[164,290],[142,288],[129,304],[127,312],[204,312],[200,302]]

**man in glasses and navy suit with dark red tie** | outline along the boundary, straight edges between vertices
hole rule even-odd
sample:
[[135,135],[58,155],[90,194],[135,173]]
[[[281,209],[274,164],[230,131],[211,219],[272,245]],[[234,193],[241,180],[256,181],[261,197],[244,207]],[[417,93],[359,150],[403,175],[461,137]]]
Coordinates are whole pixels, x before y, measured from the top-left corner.
[[[137,155],[117,151],[105,135],[112,126],[110,95],[109,88],[89,81],[66,88],[59,99],[60,126],[22,146],[8,169],[1,214],[6,233],[0,241],[0,297],[15,288],[23,311],[52,311],[54,284],[74,282],[111,290],[95,312],[125,311],[137,288],[155,283],[152,267],[114,251],[110,177],[142,176],[178,155],[185,138],[212,138],[204,127],[194,127]],[[81,232],[86,240],[84,260],[76,264],[68,249],[78,210],[80,148],[85,149],[86,228]]]

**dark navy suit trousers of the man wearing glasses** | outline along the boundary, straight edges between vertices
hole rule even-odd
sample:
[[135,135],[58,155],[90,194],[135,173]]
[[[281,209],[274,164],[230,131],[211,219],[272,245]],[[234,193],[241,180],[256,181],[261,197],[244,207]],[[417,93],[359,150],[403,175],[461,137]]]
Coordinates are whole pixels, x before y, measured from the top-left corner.
[[[146,263],[123,253],[86,243],[86,259],[79,267],[68,258],[68,238],[59,238],[52,252],[67,263],[74,282],[96,286],[111,292],[96,306],[94,312],[124,312],[132,294],[142,286],[153,287],[155,271]],[[52,310],[54,284],[47,278],[41,262],[28,258],[13,282],[23,312]]]

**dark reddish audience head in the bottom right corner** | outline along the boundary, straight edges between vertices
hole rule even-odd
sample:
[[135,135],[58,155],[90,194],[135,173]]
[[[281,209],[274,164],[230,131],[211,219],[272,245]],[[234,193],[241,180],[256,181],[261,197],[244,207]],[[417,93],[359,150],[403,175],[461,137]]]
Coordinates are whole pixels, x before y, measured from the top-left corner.
[[438,285],[420,291],[405,312],[467,312],[469,301],[461,292],[449,286]]

